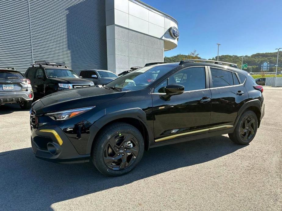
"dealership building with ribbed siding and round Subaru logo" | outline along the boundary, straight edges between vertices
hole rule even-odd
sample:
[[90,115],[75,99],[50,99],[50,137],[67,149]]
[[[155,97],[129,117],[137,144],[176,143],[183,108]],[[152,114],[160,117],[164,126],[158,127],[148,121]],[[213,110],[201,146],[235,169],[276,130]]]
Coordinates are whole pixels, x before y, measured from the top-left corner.
[[116,73],[162,62],[177,47],[178,23],[139,0],[3,0],[0,67],[37,60]]

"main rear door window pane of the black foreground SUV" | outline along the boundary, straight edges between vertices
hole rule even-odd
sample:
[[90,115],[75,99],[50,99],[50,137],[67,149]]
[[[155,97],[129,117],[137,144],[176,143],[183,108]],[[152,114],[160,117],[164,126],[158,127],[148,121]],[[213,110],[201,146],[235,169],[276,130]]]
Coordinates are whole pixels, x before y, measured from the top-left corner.
[[211,68],[212,86],[223,87],[234,85],[232,72],[221,69]]

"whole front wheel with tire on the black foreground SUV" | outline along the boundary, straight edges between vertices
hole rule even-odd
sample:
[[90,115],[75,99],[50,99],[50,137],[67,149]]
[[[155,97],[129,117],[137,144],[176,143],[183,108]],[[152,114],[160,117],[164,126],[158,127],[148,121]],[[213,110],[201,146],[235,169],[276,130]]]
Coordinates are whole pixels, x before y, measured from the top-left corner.
[[94,141],[92,162],[106,176],[127,174],[139,163],[144,153],[144,139],[140,131],[123,122],[106,126]]

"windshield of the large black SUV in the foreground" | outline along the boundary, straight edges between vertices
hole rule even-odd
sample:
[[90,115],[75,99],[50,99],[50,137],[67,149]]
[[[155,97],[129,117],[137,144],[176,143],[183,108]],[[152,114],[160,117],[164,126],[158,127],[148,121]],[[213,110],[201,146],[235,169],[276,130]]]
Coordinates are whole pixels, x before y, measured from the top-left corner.
[[116,87],[122,91],[139,90],[147,87],[173,68],[175,66],[142,67],[109,82],[106,87]]

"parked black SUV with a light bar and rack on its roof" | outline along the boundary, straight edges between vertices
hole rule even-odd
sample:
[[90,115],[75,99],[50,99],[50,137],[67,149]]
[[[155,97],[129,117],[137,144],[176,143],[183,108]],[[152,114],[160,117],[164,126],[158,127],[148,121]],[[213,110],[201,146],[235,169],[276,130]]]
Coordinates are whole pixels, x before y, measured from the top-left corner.
[[80,78],[64,62],[36,61],[25,72],[37,98],[66,89],[94,86],[89,80]]

